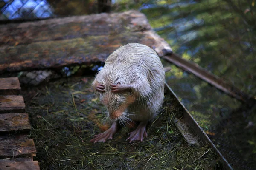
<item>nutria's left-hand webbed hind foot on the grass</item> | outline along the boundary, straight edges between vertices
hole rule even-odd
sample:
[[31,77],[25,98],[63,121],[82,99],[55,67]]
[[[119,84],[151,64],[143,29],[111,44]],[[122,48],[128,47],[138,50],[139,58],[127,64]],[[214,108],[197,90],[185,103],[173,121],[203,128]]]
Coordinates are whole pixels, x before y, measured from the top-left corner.
[[99,135],[93,136],[94,138],[92,140],[90,140],[90,142],[93,142],[93,143],[103,142],[104,143],[108,139],[113,139],[113,135],[116,133],[116,131],[117,131],[117,123],[114,122],[108,130],[106,130],[103,133],[100,133]]

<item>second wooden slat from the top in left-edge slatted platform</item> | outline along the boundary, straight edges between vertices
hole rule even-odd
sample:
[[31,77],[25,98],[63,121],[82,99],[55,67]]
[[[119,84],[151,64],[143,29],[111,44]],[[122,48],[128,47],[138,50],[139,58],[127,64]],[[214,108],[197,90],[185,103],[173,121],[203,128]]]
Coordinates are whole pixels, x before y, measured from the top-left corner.
[[23,113],[25,103],[23,96],[0,96],[0,113]]

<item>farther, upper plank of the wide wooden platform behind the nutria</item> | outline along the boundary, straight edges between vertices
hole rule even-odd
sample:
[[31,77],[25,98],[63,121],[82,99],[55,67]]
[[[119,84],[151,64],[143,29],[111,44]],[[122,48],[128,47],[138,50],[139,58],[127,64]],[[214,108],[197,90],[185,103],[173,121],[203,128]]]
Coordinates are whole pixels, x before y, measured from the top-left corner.
[[0,25],[0,45],[15,46],[15,44],[122,34],[125,31],[150,29],[151,26],[145,15],[138,11],[62,17]]

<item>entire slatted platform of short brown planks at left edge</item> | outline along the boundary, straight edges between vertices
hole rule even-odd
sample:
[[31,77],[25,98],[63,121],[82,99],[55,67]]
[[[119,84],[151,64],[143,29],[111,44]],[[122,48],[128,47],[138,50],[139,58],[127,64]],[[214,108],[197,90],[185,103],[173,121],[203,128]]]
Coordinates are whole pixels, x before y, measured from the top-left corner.
[[0,170],[39,170],[17,77],[0,78]]

